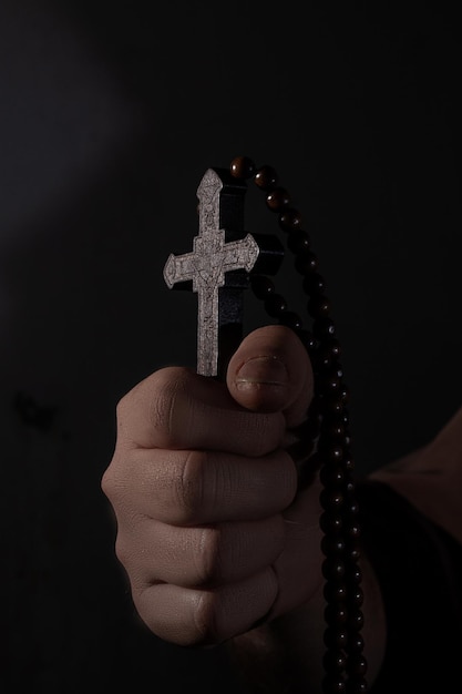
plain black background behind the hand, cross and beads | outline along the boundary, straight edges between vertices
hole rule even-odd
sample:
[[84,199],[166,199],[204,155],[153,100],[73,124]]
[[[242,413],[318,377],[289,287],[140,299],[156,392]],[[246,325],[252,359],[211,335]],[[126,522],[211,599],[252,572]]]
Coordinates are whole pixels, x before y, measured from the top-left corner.
[[100,490],[119,398],[195,363],[162,271],[207,167],[273,164],[304,214],[359,474],[460,406],[460,68],[440,2],[2,1],[1,692],[240,692],[220,650],[140,623]]

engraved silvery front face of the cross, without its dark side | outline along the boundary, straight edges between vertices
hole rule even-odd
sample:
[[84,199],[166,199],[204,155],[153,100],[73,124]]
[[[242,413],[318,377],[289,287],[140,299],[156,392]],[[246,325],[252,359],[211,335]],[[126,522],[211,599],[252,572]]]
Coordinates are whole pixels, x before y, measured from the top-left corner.
[[219,228],[222,188],[218,174],[208,169],[197,188],[199,232],[193,252],[171,254],[164,266],[168,288],[192,280],[197,293],[197,372],[203,376],[218,371],[219,287],[225,285],[225,274],[236,269],[249,273],[260,251],[251,234],[225,242],[225,229]]

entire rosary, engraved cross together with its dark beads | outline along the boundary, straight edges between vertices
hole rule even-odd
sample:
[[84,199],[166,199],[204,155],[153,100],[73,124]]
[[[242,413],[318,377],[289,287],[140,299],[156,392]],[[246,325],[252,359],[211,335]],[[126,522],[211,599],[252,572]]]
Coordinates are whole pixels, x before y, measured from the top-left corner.
[[[285,248],[277,236],[245,234],[244,196],[253,178],[294,255],[294,267],[307,296],[310,329],[289,310],[268,277],[275,275]],[[197,293],[197,372],[223,377],[243,333],[243,289],[250,287],[267,314],[291,328],[305,345],[315,374],[315,396],[299,430],[297,465],[299,489],[319,471],[322,491],[321,550],[325,608],[325,694],[365,694],[361,570],[359,568],[358,503],[348,417],[348,388],[343,384],[341,348],[330,318],[326,282],[319,272],[301,215],[291,206],[276,171],[257,167],[247,156],[233,160],[228,170],[208,169],[197,188],[199,232],[193,252],[171,255],[164,267],[170,288]]]

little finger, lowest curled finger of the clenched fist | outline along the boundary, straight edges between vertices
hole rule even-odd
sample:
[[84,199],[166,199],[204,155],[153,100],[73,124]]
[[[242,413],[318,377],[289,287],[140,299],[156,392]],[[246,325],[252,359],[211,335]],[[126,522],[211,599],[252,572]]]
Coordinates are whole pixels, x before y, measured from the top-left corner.
[[178,645],[211,645],[248,631],[277,595],[275,573],[266,569],[245,581],[211,591],[168,583],[133,590],[135,608],[148,629]]

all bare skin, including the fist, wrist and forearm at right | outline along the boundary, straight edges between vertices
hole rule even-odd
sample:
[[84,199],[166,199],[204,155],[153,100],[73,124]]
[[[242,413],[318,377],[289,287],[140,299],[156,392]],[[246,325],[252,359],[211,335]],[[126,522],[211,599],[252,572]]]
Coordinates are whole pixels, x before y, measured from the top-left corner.
[[[315,479],[297,493],[286,450],[312,389],[308,355],[283,326],[248,335],[226,382],[160,369],[119,402],[102,479],[116,517],[116,554],[143,621],[183,646],[226,643],[261,694],[321,691],[320,484]],[[374,477],[462,541],[461,422],[459,415],[435,441]],[[448,477],[453,503],[445,506],[439,500]],[[387,630],[366,555],[361,571],[372,683]]]

